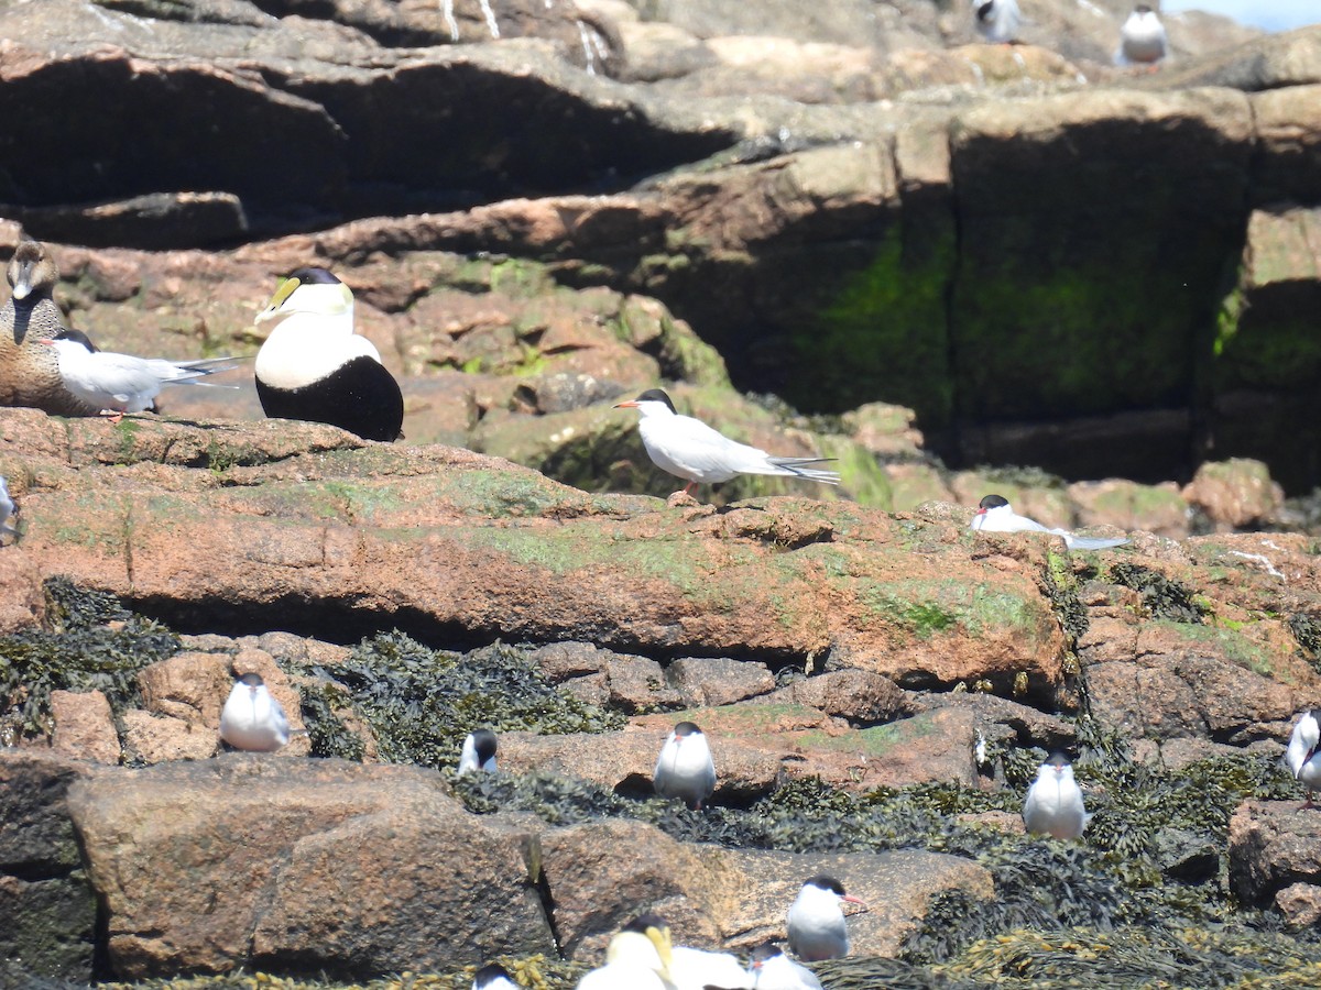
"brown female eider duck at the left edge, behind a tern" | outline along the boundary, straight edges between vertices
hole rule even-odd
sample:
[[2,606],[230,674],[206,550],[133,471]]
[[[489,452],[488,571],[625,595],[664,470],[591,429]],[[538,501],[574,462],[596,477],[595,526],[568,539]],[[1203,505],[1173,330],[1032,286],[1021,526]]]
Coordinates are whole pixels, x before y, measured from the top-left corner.
[[38,346],[65,330],[55,304],[59,269],[45,244],[24,238],[5,269],[13,294],[0,306],[0,405],[30,405],[57,416],[95,416],[59,375],[59,359]]

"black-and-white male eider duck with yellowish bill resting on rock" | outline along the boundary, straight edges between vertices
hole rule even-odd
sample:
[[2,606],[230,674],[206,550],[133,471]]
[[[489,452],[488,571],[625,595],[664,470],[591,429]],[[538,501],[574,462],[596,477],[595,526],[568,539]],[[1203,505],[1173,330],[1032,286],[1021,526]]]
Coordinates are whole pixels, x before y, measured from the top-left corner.
[[271,418],[328,422],[363,440],[398,440],[399,383],[353,330],[353,292],[325,268],[281,282],[256,325],[269,335],[256,354],[256,393]]

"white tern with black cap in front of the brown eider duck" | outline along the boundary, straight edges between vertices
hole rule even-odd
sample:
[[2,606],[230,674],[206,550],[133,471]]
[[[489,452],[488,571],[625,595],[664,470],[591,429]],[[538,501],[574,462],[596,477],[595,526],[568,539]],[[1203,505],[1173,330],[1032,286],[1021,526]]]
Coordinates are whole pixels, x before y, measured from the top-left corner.
[[165,385],[236,387],[198,381],[217,371],[238,367],[225,363],[230,358],[173,362],[99,351],[81,330],[63,330],[41,343],[55,348],[65,388],[99,409],[103,416],[110,416],[114,422],[119,422],[124,413],[149,409]]

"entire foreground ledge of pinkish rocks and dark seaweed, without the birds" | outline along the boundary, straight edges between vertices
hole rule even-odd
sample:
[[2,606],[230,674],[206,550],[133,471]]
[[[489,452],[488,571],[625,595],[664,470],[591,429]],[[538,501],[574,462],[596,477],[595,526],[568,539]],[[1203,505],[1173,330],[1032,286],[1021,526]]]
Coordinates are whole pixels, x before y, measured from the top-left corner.
[[[0,474],[7,973],[568,986],[646,908],[782,935],[820,871],[871,908],[830,986],[1102,978],[1115,946],[1321,972],[1321,818],[1279,766],[1321,704],[1309,537],[1069,554],[947,503],[587,494],[280,421],[4,411]],[[247,671],[303,730],[280,754],[219,752]],[[705,812],[649,795],[680,719]],[[476,725],[502,772],[456,779]],[[1057,748],[1077,843],[1017,818]]]

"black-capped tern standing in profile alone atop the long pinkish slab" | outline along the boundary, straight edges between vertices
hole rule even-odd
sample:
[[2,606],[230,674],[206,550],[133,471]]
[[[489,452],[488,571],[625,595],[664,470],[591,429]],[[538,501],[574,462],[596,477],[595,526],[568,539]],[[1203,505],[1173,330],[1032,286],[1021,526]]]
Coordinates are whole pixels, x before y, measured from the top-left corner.
[[719,484],[740,474],[773,474],[839,484],[839,474],[811,466],[835,458],[771,457],[765,450],[729,440],[701,420],[680,416],[670,396],[659,388],[650,388],[614,408],[642,413],[638,432],[647,457],[662,471],[688,482],[683,490],[690,495],[696,484]]

